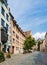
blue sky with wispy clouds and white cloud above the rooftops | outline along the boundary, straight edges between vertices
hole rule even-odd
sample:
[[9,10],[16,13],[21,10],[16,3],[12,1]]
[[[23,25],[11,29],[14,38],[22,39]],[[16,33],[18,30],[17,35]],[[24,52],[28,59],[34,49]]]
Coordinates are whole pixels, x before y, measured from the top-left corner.
[[8,0],[14,19],[23,31],[31,30],[35,38],[47,32],[47,0]]

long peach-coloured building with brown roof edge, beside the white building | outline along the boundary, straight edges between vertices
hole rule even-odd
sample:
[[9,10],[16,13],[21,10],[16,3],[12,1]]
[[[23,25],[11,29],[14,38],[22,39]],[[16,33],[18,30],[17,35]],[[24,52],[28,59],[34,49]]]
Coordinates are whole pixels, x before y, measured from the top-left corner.
[[23,53],[23,44],[24,44],[24,40],[26,37],[15,20],[12,20],[11,23],[12,23],[12,29],[11,29],[12,31],[12,53],[13,54]]

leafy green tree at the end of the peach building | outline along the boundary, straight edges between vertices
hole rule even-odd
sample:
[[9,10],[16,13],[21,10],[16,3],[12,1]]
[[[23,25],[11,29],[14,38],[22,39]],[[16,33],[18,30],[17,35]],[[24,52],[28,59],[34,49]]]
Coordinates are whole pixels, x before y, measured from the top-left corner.
[[24,50],[31,50],[32,46],[35,45],[35,39],[32,36],[29,36],[28,38],[26,38],[25,42],[24,42]]

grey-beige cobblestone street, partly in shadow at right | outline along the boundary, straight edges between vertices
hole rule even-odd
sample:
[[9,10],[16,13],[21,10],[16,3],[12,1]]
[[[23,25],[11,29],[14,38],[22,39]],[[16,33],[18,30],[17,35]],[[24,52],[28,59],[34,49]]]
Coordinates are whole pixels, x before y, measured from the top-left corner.
[[29,54],[13,55],[0,65],[47,65],[47,54],[34,52]]

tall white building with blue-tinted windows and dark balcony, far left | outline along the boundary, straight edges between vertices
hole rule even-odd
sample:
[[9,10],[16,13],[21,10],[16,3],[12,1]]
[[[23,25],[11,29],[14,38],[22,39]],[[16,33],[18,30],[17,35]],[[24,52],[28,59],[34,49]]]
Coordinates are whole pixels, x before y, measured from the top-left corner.
[[0,50],[8,52],[10,50],[10,14],[7,0],[0,0]]

